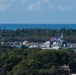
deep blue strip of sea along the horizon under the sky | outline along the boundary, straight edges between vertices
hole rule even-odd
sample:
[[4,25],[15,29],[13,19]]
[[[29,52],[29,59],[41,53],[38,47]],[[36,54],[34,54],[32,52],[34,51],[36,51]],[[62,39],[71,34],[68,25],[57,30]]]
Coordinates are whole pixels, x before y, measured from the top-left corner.
[[1,29],[22,29],[22,28],[52,28],[52,29],[76,29],[76,24],[0,24]]

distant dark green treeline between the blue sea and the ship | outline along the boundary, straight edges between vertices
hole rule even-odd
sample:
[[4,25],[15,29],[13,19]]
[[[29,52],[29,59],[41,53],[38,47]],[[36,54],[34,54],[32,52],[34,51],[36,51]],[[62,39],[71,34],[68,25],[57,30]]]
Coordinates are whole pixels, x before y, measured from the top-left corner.
[[50,39],[51,36],[58,36],[60,34],[64,35],[64,39],[69,42],[76,42],[76,30],[75,29],[65,29],[60,30],[55,29],[17,29],[17,30],[6,30],[0,29],[0,34],[2,36],[2,41],[23,41],[27,40],[30,42],[44,42]]

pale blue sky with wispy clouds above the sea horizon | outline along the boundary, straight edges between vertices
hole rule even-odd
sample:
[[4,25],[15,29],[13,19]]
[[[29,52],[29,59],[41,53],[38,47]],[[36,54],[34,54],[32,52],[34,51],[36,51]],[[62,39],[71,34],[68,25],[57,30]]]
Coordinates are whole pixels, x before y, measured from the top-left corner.
[[76,24],[76,0],[0,0],[0,24]]

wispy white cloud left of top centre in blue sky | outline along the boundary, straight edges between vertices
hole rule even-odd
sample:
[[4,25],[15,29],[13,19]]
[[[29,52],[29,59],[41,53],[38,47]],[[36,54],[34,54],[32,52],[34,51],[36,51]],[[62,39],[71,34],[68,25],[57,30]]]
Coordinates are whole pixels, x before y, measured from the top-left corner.
[[41,9],[41,1],[37,1],[28,5],[27,10],[40,10]]

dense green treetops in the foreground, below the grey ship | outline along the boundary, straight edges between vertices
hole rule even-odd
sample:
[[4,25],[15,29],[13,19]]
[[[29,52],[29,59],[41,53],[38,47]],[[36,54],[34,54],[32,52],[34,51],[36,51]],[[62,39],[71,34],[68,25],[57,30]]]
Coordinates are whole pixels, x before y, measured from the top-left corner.
[[76,53],[71,49],[18,49],[10,46],[2,49],[0,75],[56,75],[53,65],[70,66],[71,72],[76,73]]

